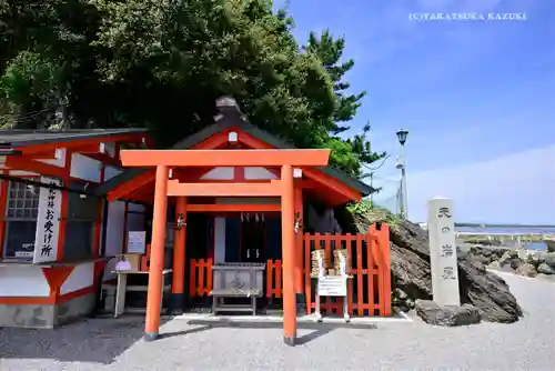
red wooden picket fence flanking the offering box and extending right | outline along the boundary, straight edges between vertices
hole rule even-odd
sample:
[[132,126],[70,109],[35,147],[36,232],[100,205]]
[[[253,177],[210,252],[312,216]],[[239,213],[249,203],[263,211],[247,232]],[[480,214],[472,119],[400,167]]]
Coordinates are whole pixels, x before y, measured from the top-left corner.
[[[390,228],[372,225],[366,234],[310,234],[303,237],[306,312],[315,308],[315,279],[311,279],[311,252],[323,249],[333,264],[333,250],[346,249],[350,260],[347,308],[351,315],[391,315]],[[191,260],[189,295],[203,297],[212,290],[212,259]],[[266,298],[283,294],[281,260],[266,262]],[[321,298],[321,310],[342,314],[342,299]]]

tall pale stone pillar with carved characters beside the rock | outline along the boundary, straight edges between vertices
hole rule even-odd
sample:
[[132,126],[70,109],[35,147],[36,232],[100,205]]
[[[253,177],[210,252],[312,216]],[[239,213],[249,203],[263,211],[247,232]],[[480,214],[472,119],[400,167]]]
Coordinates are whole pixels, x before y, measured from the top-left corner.
[[451,199],[430,199],[427,232],[433,299],[440,305],[461,305],[455,221]]

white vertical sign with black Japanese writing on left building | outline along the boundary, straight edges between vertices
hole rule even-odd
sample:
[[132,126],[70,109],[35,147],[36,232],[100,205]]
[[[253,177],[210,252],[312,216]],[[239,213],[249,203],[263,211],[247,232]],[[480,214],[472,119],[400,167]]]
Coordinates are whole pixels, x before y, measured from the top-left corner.
[[[41,182],[61,186],[61,180],[41,177]],[[33,263],[56,261],[58,255],[58,235],[60,231],[60,212],[62,191],[41,187],[39,193],[39,214],[37,215],[37,234],[34,237]]]

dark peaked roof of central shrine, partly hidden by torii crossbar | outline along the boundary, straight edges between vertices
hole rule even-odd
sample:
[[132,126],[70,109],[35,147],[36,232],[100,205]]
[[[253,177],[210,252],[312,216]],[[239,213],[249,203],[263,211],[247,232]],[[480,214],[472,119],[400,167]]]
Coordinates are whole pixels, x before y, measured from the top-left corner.
[[[172,150],[186,150],[192,148],[193,146],[209,139],[210,137],[224,131],[228,128],[239,128],[242,131],[253,136],[254,138],[260,139],[263,142],[266,142],[268,144],[278,148],[278,149],[292,149],[294,147],[289,146],[287,143],[283,142],[275,136],[272,136],[271,133],[256,128],[255,126],[251,124],[248,119],[235,108],[233,109],[221,109],[219,108],[220,111],[222,112],[223,117],[221,117],[216,123],[211,124],[210,127],[204,128],[203,130],[179,141],[175,143],[171,149]],[[332,167],[322,167],[317,168],[325,174],[335,178],[343,183],[345,183],[347,187],[351,187],[363,195],[369,195],[374,191],[374,189],[366,183],[363,183],[362,181],[354,179],[343,171],[340,171],[337,169],[334,169]],[[145,168],[132,168],[129,170],[123,171],[117,177],[111,178],[107,182],[100,184],[95,189],[95,194],[98,195],[104,195],[111,190],[115,189],[118,186],[123,184],[135,177],[147,172],[149,169]]]

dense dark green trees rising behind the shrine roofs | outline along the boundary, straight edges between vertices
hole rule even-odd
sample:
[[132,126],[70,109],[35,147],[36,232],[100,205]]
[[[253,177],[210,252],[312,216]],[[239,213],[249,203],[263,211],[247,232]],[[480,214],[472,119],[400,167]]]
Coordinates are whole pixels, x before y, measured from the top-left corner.
[[72,128],[147,127],[167,147],[211,124],[228,94],[261,129],[331,148],[331,163],[360,177],[383,153],[370,127],[337,137],[365,94],[346,92],[345,40],[326,30],[301,47],[292,28],[269,0],[0,0],[0,98],[18,123],[40,127],[32,113],[63,97]]

